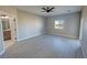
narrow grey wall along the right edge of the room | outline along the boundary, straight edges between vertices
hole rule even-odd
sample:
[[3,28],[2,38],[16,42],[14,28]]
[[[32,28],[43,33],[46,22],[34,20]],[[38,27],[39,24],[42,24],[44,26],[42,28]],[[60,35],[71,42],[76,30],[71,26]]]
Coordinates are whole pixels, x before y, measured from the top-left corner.
[[83,29],[81,29],[81,48],[84,53],[84,57],[87,57],[87,7],[84,7],[81,11],[81,23],[83,23]]

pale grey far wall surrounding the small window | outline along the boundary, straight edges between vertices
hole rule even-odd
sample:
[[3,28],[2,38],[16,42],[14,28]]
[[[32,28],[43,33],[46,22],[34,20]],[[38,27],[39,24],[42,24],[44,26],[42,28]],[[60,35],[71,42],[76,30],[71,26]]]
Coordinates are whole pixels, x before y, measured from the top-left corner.
[[[55,20],[64,20],[64,29],[54,29]],[[70,37],[79,36],[80,13],[70,13],[47,18],[47,34],[65,35]]]

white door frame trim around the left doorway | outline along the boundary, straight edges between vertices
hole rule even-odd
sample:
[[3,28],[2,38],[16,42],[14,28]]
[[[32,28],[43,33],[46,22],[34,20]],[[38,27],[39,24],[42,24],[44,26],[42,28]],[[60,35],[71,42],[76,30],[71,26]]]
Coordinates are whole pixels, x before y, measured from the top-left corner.
[[[17,37],[18,37],[18,34],[17,34],[17,31],[18,31],[18,19],[17,19],[17,15],[13,15],[13,14],[10,14],[10,13],[7,13],[7,12],[3,12],[3,11],[0,11],[0,14],[4,14],[4,15],[8,15],[10,19],[10,28],[11,28],[11,40],[12,42],[17,42]],[[15,21],[14,21],[15,19]],[[4,41],[3,41],[3,30],[2,30],[2,21],[1,21],[1,18],[0,18],[0,23],[1,23],[1,34],[2,34],[2,44],[3,44],[3,52],[6,52],[6,46],[4,46]],[[15,23],[15,25],[14,25]],[[0,53],[2,54],[2,53]]]

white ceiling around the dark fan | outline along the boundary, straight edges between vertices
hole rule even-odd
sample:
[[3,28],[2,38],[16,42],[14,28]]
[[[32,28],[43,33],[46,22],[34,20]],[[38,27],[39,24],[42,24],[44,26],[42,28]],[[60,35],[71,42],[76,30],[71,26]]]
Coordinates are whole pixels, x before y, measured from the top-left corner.
[[43,17],[74,13],[81,10],[80,6],[54,6],[55,9],[53,10],[53,12],[46,13],[41,12],[43,7],[46,6],[18,6],[17,8]]

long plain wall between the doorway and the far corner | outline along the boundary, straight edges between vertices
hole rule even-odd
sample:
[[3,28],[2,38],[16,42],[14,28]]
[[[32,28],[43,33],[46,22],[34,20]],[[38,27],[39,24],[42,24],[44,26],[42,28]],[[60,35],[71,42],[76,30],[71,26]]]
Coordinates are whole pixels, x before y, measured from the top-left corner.
[[41,35],[45,31],[45,18],[18,10],[18,40]]

